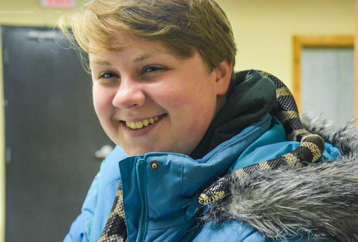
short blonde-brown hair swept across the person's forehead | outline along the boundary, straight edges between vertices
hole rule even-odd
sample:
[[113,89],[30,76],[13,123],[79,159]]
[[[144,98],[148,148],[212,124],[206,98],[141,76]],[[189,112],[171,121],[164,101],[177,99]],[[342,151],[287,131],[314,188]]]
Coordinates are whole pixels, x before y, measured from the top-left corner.
[[[235,62],[230,22],[214,0],[92,0],[63,15],[58,25],[73,47],[86,53],[120,50],[123,46],[113,41],[113,35],[121,30],[160,41],[178,57],[198,51],[209,72],[224,60]],[[89,71],[88,62],[84,67]]]

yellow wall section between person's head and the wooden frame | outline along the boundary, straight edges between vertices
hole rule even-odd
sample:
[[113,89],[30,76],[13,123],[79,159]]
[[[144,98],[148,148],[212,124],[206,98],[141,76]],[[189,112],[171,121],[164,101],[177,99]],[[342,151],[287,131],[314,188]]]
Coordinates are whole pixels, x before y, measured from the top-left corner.
[[354,35],[355,1],[218,0],[238,53],[235,70],[259,69],[292,89],[293,35]]

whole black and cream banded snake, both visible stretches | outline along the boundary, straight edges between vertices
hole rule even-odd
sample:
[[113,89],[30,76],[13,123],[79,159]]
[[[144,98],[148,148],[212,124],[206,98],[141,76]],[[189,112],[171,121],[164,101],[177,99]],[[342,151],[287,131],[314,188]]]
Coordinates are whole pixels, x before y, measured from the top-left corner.
[[[243,71],[242,73],[247,72]],[[276,116],[285,128],[287,139],[298,141],[301,145],[286,155],[241,168],[213,182],[200,195],[200,207],[217,202],[228,195],[231,183],[237,177],[248,176],[257,170],[272,170],[281,165],[305,166],[317,161],[324,151],[322,138],[309,133],[303,127],[294,97],[285,84],[267,72],[260,71],[260,73],[269,77],[276,86],[276,98],[279,103]],[[120,182],[110,215],[98,242],[123,242],[126,239],[127,228],[123,210],[122,183]]]

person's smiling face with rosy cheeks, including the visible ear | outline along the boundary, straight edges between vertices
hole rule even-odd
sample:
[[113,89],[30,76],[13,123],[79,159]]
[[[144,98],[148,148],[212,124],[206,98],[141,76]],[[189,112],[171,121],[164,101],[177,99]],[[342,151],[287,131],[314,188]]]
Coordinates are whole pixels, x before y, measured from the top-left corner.
[[122,50],[89,54],[93,103],[103,129],[129,156],[189,155],[223,104],[230,70],[228,81],[222,80],[224,72],[209,73],[198,52],[179,59],[160,42],[124,35],[116,41]]

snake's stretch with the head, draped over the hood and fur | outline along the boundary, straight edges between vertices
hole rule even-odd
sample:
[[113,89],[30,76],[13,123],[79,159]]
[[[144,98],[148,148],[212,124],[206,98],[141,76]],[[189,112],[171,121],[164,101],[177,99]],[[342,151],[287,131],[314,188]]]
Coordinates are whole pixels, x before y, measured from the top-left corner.
[[322,138],[319,135],[309,133],[303,127],[295,99],[290,90],[275,76],[263,71],[260,71],[260,73],[269,77],[276,86],[276,98],[279,104],[276,116],[285,128],[287,139],[289,141],[298,141],[301,145],[283,156],[246,166],[213,182],[200,195],[200,207],[217,202],[228,195],[230,186],[236,178],[248,176],[251,172],[257,170],[273,170],[281,165],[306,166],[316,162],[324,152]]

